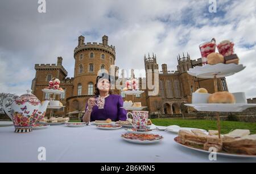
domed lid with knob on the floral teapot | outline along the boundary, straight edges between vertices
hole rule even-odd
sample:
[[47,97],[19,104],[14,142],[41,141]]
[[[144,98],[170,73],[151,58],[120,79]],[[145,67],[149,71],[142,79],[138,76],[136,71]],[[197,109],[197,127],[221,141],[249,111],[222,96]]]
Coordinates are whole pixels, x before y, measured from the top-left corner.
[[28,89],[26,94],[23,94],[23,95],[19,96],[18,98],[16,98],[16,100],[15,100],[16,104],[23,105],[24,103],[28,102],[34,106],[39,105],[41,103],[40,100],[38,100],[38,98],[31,92],[32,92],[32,90]]

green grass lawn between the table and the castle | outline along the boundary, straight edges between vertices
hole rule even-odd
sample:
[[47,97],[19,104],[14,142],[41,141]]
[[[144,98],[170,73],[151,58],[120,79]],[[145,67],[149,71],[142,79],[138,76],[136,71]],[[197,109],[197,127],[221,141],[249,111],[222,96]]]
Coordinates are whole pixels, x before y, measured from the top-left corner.
[[[158,126],[177,125],[180,127],[195,127],[198,129],[205,129],[205,130],[218,130],[217,121],[207,121],[207,120],[198,120],[198,119],[168,119],[168,118],[151,119],[151,121],[152,123]],[[70,122],[80,122],[80,121],[71,120]],[[249,129],[251,131],[251,134],[256,134],[256,123],[221,121],[222,134],[226,134],[234,129]]]

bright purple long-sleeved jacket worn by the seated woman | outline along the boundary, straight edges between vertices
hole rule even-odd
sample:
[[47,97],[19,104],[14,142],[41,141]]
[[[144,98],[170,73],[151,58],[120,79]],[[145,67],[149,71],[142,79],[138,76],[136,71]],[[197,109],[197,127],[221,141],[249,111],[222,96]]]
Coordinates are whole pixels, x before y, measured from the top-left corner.
[[[93,106],[90,114],[90,121],[106,120],[108,118],[112,121],[126,121],[126,110],[120,107],[123,106],[123,99],[119,95],[110,94],[105,98],[104,109],[98,109],[98,106]],[[87,108],[87,105],[85,109]]]

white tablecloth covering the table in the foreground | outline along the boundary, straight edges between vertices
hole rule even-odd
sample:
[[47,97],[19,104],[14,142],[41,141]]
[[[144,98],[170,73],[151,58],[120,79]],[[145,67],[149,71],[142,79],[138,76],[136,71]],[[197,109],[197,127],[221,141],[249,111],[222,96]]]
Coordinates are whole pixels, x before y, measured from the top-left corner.
[[[174,133],[154,131],[164,139],[156,144],[134,144],[121,138],[125,129],[100,130],[96,126],[49,126],[32,132],[14,133],[0,127],[0,162],[44,162],[38,148],[46,148],[46,162],[212,162],[208,154],[189,150],[174,142]],[[256,162],[217,156],[217,162]]]

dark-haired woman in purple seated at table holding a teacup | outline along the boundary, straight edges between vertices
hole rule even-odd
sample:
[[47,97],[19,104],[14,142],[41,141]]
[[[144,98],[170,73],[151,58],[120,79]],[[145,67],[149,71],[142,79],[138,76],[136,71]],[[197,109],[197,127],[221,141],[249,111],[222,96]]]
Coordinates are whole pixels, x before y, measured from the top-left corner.
[[[85,107],[85,114],[82,117],[82,122],[106,120],[108,118],[112,121],[125,121],[127,112],[125,109],[120,108],[123,106],[122,97],[111,93],[110,76],[109,74],[102,73],[101,76],[97,77],[94,92],[95,97],[89,98]],[[104,109],[99,109],[96,105],[97,97],[104,97]]]

